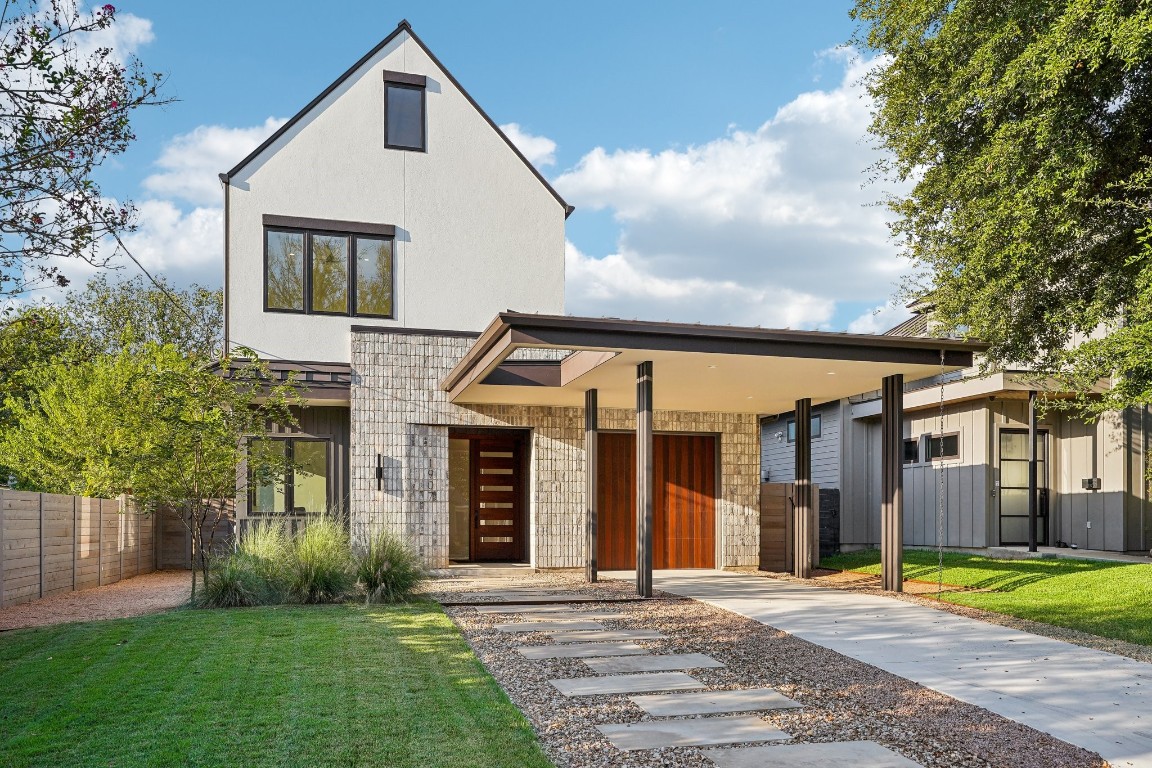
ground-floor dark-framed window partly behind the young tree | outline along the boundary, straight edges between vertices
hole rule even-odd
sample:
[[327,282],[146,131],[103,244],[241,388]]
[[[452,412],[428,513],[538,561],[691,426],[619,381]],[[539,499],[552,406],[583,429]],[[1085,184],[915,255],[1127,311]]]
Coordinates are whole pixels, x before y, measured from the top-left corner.
[[271,477],[257,477],[249,465],[248,514],[318,515],[328,510],[332,487],[332,440],[314,436],[253,438],[249,456],[264,451],[279,465]]

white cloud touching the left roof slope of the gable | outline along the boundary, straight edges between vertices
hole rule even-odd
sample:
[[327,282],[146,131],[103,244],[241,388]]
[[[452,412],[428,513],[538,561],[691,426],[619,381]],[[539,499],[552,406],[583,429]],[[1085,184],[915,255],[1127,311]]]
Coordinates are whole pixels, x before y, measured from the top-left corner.
[[199,126],[176,136],[156,161],[161,170],[144,180],[144,189],[196,205],[219,205],[223,199],[219,174],[235,166],[285,122],[283,117],[268,117],[249,128]]

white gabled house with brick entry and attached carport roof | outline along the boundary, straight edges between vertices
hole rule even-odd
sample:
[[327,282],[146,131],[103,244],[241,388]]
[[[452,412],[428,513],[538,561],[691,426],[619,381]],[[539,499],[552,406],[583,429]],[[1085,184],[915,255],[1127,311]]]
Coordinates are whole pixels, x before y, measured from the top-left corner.
[[310,405],[237,517],[339,508],[433,567],[755,565],[759,415],[976,349],[562,315],[571,208],[407,22],[221,180],[226,337]]

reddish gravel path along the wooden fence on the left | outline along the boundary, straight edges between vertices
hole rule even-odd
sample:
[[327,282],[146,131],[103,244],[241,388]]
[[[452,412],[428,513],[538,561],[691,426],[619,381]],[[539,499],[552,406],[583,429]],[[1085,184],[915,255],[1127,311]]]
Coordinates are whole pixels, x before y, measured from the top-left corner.
[[154,571],[103,587],[54,594],[0,608],[0,632],[154,614],[188,602],[191,587],[191,571]]

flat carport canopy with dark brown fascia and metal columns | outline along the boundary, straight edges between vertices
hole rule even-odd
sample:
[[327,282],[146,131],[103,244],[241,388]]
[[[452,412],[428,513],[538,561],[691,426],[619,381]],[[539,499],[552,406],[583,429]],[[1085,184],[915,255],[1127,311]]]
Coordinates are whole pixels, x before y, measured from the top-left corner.
[[[881,555],[886,585],[900,586],[902,397],[904,380],[970,367],[985,344],[923,339],[647,322],[614,318],[505,312],[488,325],[441,382],[455,404],[571,406],[585,409],[596,433],[598,408],[637,410],[638,581],[651,587],[651,429],[653,410],[775,415],[861,393],[884,393]],[[797,442],[809,440],[797,423]],[[594,443],[585,443],[594,466]],[[645,455],[645,446],[647,455]],[[810,474],[797,451],[797,482]],[[594,474],[589,471],[586,474]],[[804,512],[803,505],[798,512]],[[590,546],[596,510],[589,509]],[[646,509],[645,509],[646,508]],[[886,533],[885,533],[886,532]],[[798,558],[797,558],[798,560]],[[893,568],[896,570],[893,572]],[[590,578],[596,569],[590,555]]]

